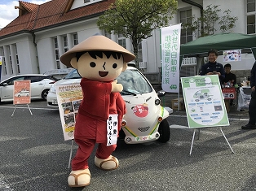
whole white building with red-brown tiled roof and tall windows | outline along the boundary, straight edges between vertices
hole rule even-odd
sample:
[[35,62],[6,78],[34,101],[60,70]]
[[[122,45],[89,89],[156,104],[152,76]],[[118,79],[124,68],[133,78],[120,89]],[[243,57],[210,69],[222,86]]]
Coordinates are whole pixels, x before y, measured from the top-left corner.
[[[52,0],[42,5],[21,2],[17,8],[19,16],[0,31],[0,56],[2,56],[2,79],[25,73],[46,73],[66,67],[60,63],[60,55],[77,43],[95,33],[101,33],[117,41],[127,50],[132,50],[129,39],[99,31],[96,21],[114,0]],[[237,16],[232,33],[255,34],[255,0],[179,0],[178,11],[170,24],[182,23],[192,15],[200,16],[201,9],[208,5],[219,5],[224,11],[230,9],[231,16]],[[238,11],[239,10],[239,11]],[[195,37],[183,31],[182,42]],[[217,33],[220,33],[219,31]],[[188,40],[188,41],[187,41]],[[161,71],[160,30],[154,30],[152,37],[142,41],[139,47],[140,66],[152,81],[159,80]],[[249,70],[254,63],[253,54],[244,54],[244,68],[240,63],[232,63],[232,70]],[[223,63],[222,56],[218,62]],[[224,64],[224,63],[223,63]],[[184,75],[194,75],[198,68],[186,67]]]

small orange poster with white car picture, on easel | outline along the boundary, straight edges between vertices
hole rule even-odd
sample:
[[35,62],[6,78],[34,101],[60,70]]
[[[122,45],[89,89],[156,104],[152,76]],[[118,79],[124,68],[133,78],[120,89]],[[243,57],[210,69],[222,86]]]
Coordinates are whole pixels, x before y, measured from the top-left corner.
[[30,95],[30,80],[14,81],[13,104],[29,104]]

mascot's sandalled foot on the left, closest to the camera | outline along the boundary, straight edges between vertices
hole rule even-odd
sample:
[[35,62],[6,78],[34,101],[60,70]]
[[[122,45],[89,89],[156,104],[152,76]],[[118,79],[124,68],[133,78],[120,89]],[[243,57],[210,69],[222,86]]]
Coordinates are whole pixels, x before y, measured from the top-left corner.
[[68,176],[68,185],[70,187],[83,187],[90,184],[89,169],[71,171]]

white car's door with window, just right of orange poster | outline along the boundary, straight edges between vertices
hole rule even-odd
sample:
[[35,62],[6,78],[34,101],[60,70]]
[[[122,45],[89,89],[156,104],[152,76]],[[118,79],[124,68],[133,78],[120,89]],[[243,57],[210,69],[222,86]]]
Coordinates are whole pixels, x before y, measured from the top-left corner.
[[31,97],[41,97],[45,86],[43,76],[26,76],[25,80],[30,80]]

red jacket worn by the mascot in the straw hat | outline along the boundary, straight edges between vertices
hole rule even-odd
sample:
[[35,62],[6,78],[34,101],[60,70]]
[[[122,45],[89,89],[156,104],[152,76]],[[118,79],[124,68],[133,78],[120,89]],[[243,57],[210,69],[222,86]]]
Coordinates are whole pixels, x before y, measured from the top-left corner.
[[99,82],[82,78],[83,100],[79,107],[75,137],[95,139],[97,143],[107,141],[107,119],[118,115],[118,130],[126,114],[126,103],[120,93],[112,93],[111,82]]

